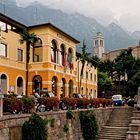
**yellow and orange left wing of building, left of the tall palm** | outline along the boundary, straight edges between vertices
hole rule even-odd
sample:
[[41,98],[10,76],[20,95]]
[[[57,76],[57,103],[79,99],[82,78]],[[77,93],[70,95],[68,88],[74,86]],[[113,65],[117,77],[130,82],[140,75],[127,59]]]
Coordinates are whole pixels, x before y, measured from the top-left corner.
[[[0,88],[25,93],[25,44],[19,43],[19,32],[24,25],[0,14]],[[21,56],[22,55],[22,56]]]

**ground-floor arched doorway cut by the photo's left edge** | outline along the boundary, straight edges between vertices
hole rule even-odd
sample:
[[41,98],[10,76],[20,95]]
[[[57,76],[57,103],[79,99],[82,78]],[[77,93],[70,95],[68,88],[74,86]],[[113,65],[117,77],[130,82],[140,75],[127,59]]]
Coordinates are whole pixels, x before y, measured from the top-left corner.
[[7,94],[7,76],[5,74],[0,76],[0,88],[2,94]]

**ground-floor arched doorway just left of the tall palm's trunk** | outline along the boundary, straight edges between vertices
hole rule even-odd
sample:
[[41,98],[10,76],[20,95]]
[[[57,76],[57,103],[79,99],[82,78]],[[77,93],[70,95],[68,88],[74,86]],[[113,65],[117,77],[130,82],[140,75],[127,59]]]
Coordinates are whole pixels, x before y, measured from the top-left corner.
[[17,94],[18,95],[23,94],[23,79],[22,79],[22,77],[18,77],[18,79],[17,79]]

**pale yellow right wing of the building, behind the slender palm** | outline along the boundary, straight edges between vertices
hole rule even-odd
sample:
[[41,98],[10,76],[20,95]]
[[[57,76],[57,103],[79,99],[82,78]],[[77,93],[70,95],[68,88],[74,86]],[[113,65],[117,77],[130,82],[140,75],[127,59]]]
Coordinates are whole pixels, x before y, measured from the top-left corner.
[[[77,57],[79,53],[77,53]],[[84,72],[82,76],[81,89],[80,88],[80,73],[82,63],[80,59],[76,59],[76,92],[80,90],[80,93],[87,98],[97,98],[97,68],[94,67],[90,62],[85,63]]]

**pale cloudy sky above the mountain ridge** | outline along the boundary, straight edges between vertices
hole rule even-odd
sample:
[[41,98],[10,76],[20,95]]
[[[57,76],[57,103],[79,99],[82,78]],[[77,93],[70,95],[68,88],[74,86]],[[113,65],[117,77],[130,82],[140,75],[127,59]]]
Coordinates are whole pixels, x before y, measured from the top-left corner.
[[128,31],[140,31],[140,0],[17,0],[17,3],[27,6],[34,1],[64,12],[94,17],[104,26],[115,22]]

